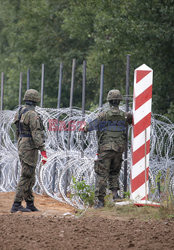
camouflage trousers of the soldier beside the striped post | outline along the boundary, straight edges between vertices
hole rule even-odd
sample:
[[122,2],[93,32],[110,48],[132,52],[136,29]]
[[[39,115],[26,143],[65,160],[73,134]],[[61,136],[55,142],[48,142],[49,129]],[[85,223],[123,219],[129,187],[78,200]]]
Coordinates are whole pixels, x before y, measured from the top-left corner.
[[113,150],[103,151],[95,161],[96,173],[95,198],[104,200],[107,184],[109,189],[119,189],[119,173],[122,163],[122,153]]

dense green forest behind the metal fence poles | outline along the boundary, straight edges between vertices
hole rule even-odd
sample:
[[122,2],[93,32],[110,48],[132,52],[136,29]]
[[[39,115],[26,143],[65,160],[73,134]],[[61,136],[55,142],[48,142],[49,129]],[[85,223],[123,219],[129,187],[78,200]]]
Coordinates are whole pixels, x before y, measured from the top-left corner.
[[61,107],[69,106],[72,59],[76,58],[73,106],[81,107],[82,63],[87,62],[86,109],[99,101],[100,67],[107,92],[125,95],[130,54],[130,94],[134,69],[154,71],[153,113],[174,121],[174,0],[0,0],[0,71],[5,74],[4,109],[23,94],[40,91],[45,64],[44,107],[56,108],[59,65],[63,62]]

